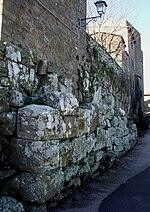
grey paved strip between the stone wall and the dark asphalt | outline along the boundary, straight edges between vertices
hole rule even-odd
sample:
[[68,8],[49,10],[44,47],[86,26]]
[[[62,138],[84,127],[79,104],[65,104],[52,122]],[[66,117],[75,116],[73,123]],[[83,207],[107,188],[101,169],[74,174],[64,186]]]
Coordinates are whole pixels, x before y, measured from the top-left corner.
[[[100,210],[100,204],[109,194],[123,183],[126,183],[128,179],[148,169],[148,167],[150,167],[150,130],[143,137],[138,138],[137,145],[126,156],[121,158],[117,167],[110,169],[107,173],[87,183],[77,192],[70,195],[69,198],[65,199],[60,205],[53,209],[49,208],[48,211],[103,211]],[[111,210],[105,211],[112,212]]]

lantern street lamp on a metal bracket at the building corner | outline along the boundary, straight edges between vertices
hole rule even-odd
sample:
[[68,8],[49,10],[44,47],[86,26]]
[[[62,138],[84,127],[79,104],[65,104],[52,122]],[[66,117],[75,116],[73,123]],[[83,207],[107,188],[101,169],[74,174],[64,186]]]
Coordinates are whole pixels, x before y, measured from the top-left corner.
[[[105,1],[96,1],[95,3],[96,9],[97,9],[97,13],[99,14],[98,16],[94,16],[94,17],[89,17],[89,18],[78,18],[78,28],[80,29],[81,27],[86,26],[88,23],[90,23],[91,21],[97,19],[97,18],[102,18],[102,15],[105,14],[106,11],[106,7],[107,4]],[[88,21],[88,22],[87,22]]]

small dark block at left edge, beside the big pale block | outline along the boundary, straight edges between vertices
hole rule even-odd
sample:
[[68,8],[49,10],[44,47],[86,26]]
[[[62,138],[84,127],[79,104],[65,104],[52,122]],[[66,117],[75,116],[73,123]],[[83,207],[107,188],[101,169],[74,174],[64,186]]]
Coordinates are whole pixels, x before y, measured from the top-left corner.
[[16,113],[7,112],[0,114],[0,134],[14,135],[16,131]]

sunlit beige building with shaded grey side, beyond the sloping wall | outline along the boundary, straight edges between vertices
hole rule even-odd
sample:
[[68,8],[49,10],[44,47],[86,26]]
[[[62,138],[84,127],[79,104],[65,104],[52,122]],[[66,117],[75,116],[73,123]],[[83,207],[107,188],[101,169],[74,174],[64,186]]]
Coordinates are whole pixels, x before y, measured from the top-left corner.
[[89,27],[87,31],[104,46],[106,51],[127,73],[133,110],[136,113],[143,110],[143,52],[141,35],[138,30],[127,20],[108,20],[101,26]]

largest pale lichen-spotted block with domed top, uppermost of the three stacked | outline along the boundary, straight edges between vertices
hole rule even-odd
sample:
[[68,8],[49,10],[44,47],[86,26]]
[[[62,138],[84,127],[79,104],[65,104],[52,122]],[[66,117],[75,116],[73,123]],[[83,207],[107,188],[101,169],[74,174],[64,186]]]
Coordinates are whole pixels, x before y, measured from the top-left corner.
[[17,120],[17,136],[26,140],[59,140],[75,137],[74,116],[62,118],[60,112],[45,105],[28,105],[20,108]]

